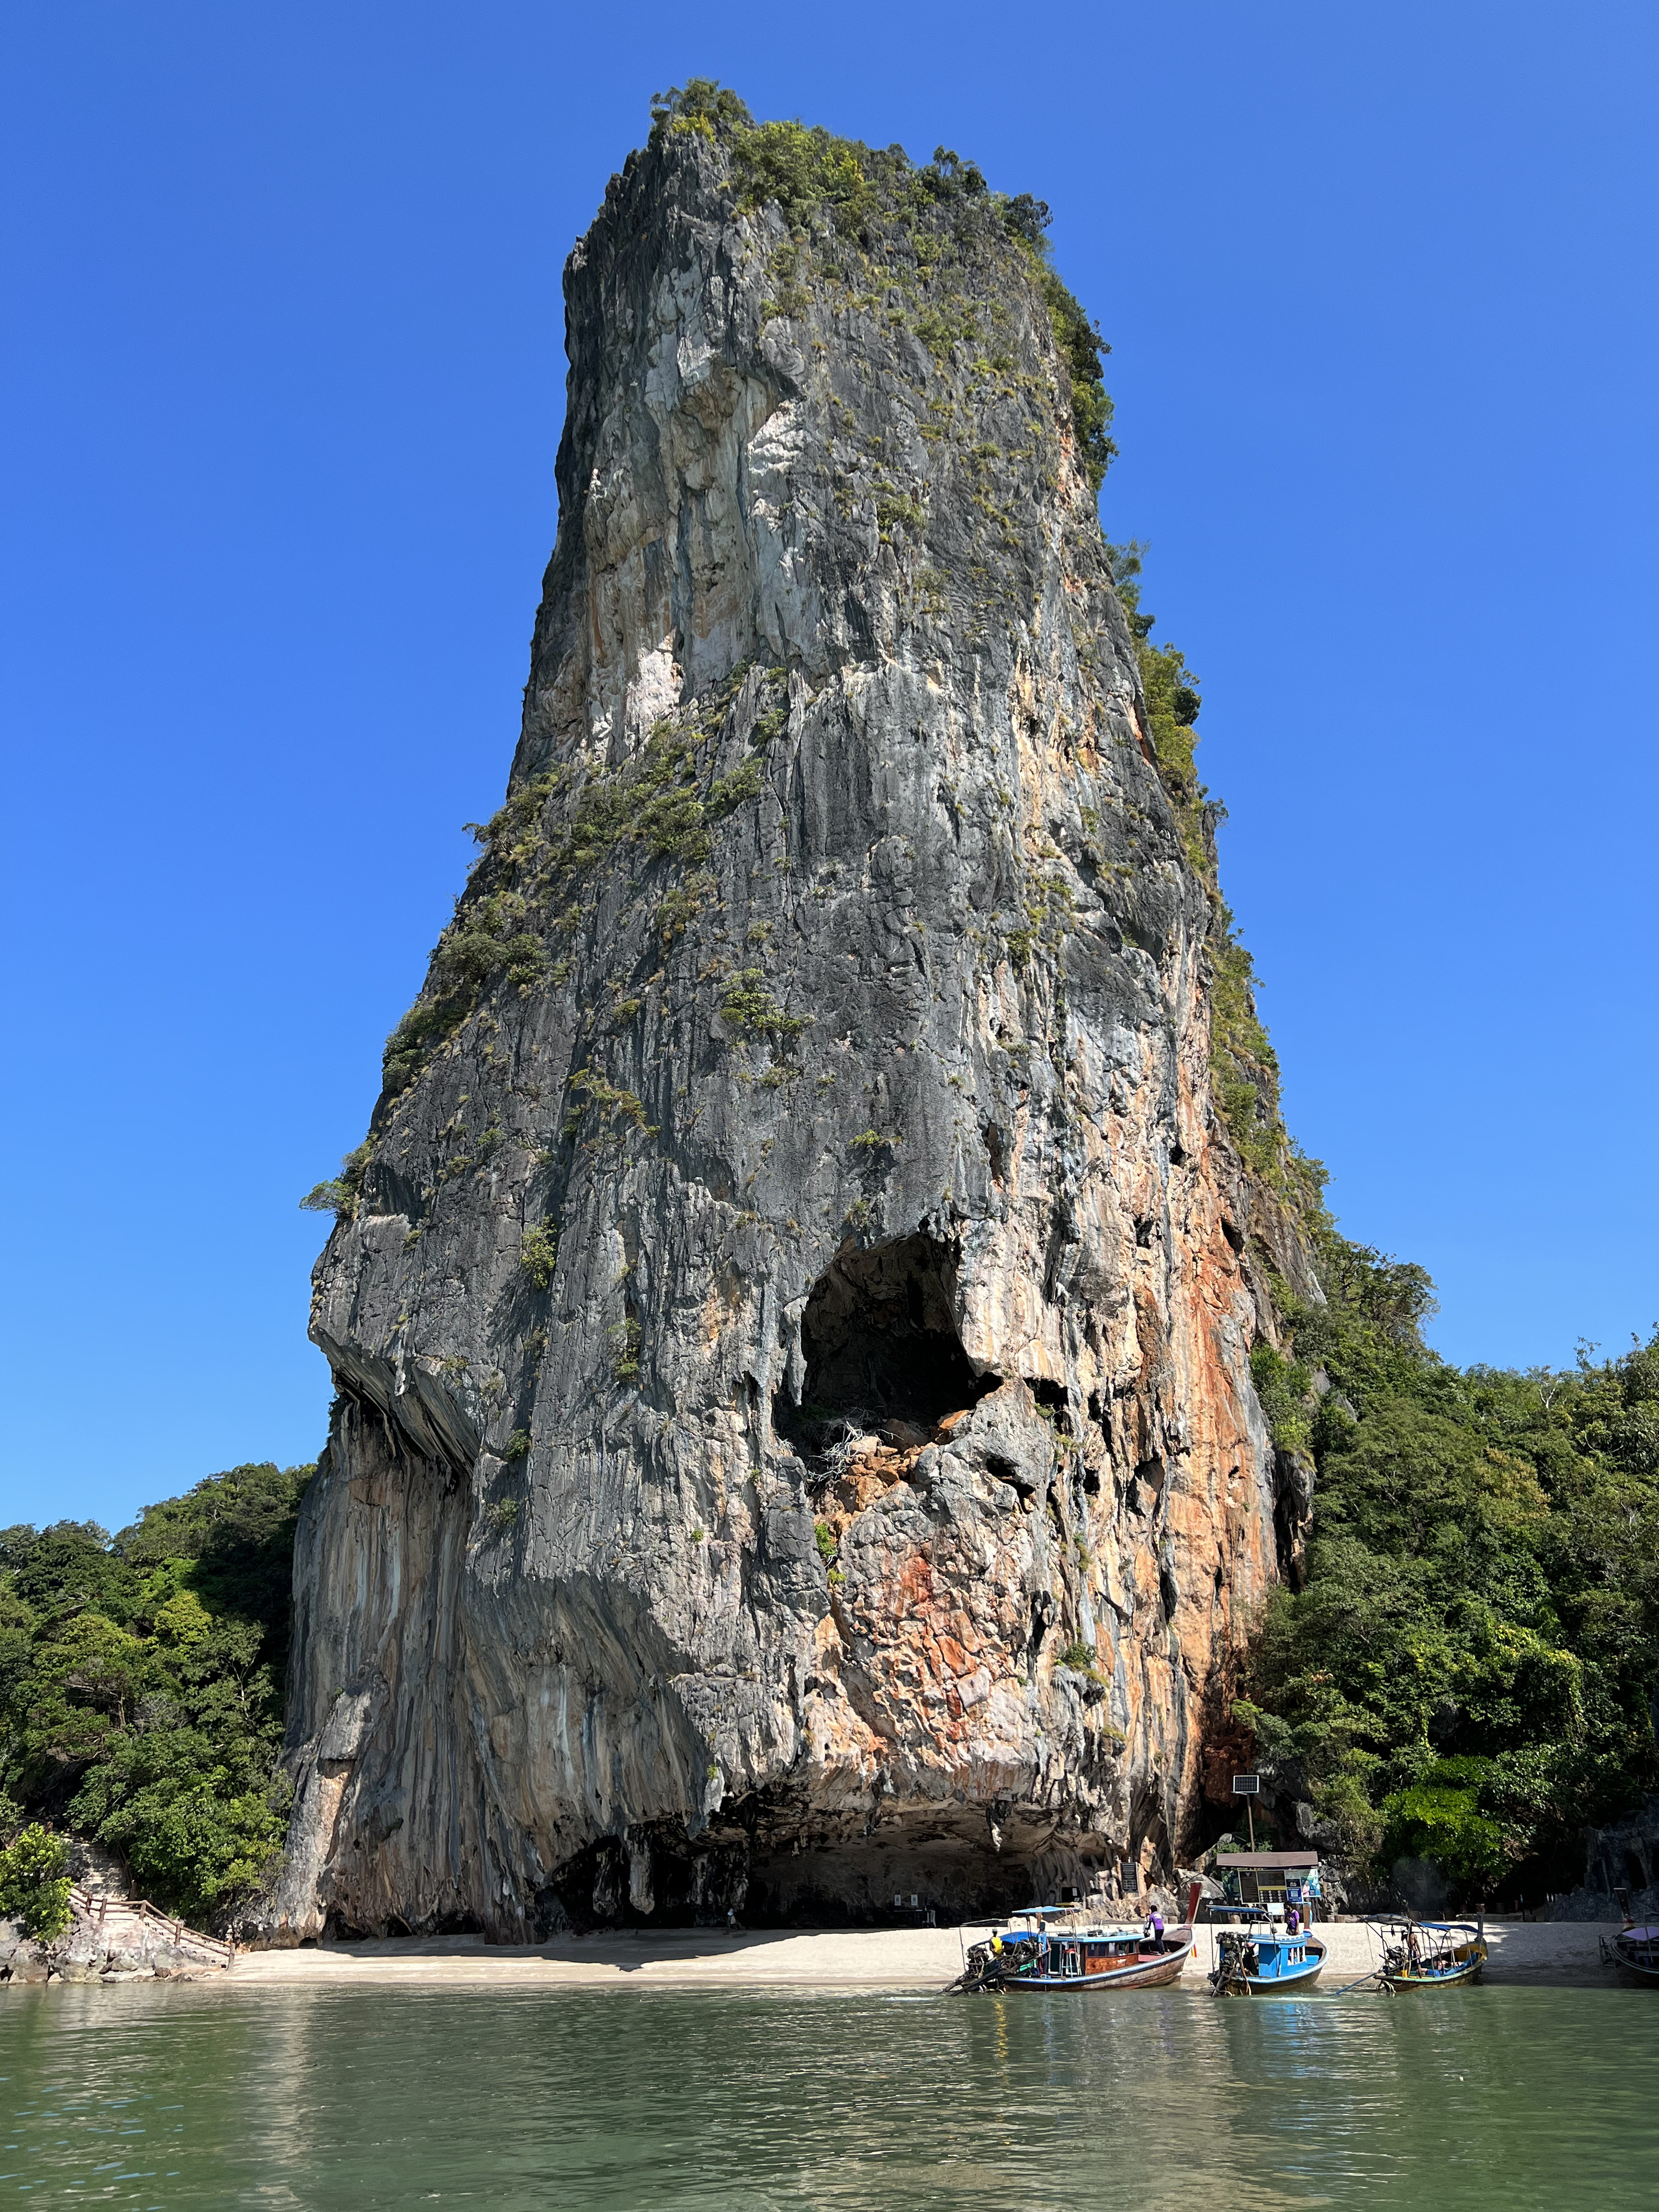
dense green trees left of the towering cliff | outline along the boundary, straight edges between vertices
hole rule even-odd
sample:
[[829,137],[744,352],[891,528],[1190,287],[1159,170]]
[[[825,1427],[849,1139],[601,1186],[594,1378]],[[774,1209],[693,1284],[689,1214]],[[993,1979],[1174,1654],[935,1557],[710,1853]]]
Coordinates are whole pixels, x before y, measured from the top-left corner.
[[307,1467],[237,1467],[148,1506],[0,1531],[0,1785],[122,1851],[188,1920],[281,1847],[294,1515]]

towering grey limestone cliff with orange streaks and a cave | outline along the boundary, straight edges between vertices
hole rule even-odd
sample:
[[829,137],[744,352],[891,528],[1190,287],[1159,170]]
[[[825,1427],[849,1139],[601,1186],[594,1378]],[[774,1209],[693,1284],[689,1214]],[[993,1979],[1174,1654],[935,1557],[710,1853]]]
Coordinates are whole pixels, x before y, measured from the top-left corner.
[[571,254],[509,796],[316,1270],[276,1940],[1170,1865],[1312,1287],[1037,212],[681,113]]

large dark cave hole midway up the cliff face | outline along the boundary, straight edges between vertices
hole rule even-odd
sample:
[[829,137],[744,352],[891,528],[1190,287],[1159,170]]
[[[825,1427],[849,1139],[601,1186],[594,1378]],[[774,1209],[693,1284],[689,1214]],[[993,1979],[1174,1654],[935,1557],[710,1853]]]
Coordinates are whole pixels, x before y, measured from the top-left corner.
[[805,1383],[772,1409],[790,1442],[810,1451],[856,1429],[920,1442],[947,1413],[978,1405],[1002,1380],[980,1374],[956,1327],[956,1261],[936,1237],[898,1237],[841,1252],[812,1285],[801,1316]]

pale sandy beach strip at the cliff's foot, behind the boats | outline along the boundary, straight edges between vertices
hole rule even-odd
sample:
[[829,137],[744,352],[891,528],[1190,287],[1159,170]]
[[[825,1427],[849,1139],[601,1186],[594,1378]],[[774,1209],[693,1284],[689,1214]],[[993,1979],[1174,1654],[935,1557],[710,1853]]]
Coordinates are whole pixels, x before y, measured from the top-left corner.
[[[1613,1989],[1619,1978],[1599,1962],[1593,1922],[1489,1922],[1493,1984]],[[814,1929],[726,1933],[675,1929],[564,1938],[518,1949],[478,1936],[389,1938],[319,1944],[301,1951],[243,1951],[221,1986],[323,1989],[367,1982],[403,1986],[549,1986],[549,1989],[945,1989],[962,1969],[962,1944],[982,1929]],[[1199,1951],[1177,1989],[1206,1995],[1214,1929],[1199,1929]],[[1376,1933],[1363,1922],[1327,1922],[1329,1947],[1321,1986],[1340,1989],[1378,1960]]]

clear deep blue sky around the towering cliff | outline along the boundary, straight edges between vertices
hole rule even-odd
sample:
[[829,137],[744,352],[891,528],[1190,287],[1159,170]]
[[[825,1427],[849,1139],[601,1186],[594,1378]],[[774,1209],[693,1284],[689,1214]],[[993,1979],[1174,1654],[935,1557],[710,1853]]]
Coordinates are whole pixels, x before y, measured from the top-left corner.
[[325,1223],[507,776],[560,270],[655,86],[1055,210],[1345,1230],[1458,1360],[1655,1279],[1641,4],[9,11],[4,1495],[312,1458]]

